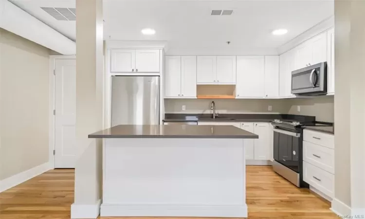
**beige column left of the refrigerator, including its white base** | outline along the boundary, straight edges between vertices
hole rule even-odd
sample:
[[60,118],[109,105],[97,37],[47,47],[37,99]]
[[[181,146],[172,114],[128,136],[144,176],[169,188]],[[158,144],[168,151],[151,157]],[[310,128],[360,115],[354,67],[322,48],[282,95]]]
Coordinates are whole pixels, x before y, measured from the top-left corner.
[[76,0],[75,198],[71,218],[97,218],[101,203],[101,141],[88,135],[103,128],[103,2]]

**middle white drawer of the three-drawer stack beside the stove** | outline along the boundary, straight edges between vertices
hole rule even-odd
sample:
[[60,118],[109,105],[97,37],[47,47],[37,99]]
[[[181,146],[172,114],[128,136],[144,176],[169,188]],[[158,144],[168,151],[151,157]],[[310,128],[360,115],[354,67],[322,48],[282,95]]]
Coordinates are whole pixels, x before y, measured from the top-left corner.
[[334,174],[334,150],[303,141],[303,160]]

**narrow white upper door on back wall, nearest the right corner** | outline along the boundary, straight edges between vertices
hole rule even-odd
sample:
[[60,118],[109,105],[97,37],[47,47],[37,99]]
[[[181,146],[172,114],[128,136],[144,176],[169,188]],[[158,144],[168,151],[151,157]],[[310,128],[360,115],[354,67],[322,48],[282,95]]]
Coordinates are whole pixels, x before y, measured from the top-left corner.
[[265,56],[265,97],[279,96],[279,56]]

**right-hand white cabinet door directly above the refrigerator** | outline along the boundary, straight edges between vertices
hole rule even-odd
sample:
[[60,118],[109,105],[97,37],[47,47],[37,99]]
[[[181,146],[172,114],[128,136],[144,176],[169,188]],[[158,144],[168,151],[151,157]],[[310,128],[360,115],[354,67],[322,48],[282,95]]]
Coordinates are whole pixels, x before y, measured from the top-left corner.
[[136,50],[137,72],[160,72],[160,50]]

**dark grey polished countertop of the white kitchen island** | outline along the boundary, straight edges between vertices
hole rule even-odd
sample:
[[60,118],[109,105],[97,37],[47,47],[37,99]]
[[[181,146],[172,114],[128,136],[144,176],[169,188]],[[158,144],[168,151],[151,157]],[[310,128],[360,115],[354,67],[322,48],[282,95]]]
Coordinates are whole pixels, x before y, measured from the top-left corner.
[[258,135],[234,126],[119,125],[89,138],[226,138],[257,139]]

